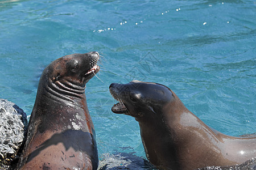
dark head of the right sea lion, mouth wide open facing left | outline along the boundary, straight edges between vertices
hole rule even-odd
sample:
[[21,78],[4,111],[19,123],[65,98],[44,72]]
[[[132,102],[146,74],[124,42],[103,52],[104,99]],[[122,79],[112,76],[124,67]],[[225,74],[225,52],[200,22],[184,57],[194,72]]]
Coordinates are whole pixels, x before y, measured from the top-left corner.
[[140,120],[159,117],[163,105],[174,100],[172,91],[158,83],[141,82],[133,80],[127,84],[112,83],[109,87],[110,94],[119,103],[114,104],[112,112],[127,114]]

